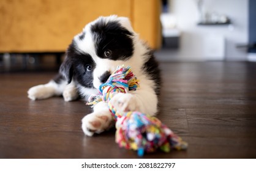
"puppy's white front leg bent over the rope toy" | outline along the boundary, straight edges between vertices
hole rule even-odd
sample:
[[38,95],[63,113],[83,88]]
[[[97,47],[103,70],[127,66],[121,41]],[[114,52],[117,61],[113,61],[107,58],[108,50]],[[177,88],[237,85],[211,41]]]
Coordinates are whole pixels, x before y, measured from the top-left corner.
[[149,86],[141,85],[141,89],[130,93],[118,93],[111,103],[119,112],[139,111],[149,115],[157,113],[157,95]]

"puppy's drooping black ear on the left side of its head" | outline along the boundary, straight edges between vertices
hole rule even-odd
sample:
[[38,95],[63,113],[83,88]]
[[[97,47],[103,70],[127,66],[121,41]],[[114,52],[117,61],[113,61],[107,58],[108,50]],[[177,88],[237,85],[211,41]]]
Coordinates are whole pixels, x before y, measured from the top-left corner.
[[73,62],[69,57],[66,56],[62,62],[61,67],[59,68],[59,73],[67,79],[68,84],[72,81]]

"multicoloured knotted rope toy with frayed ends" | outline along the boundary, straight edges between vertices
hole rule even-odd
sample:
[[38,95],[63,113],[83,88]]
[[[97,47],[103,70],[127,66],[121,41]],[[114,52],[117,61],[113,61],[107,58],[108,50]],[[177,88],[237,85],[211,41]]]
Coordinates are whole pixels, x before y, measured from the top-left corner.
[[116,93],[135,91],[138,87],[138,79],[130,67],[118,67],[107,82],[100,85],[99,95],[94,96],[94,101],[88,104],[95,105],[99,101],[108,103],[110,112],[116,120],[116,143],[119,144],[119,147],[137,150],[138,156],[157,149],[165,152],[169,152],[171,149],[186,149],[187,143],[156,117],[138,111],[125,113],[116,111],[111,104],[111,98]]

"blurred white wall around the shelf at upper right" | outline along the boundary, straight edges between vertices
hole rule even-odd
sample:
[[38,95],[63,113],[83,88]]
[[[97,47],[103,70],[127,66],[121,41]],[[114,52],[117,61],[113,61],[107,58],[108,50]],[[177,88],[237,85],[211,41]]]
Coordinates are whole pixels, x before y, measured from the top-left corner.
[[180,48],[174,54],[180,60],[208,60],[205,48],[207,37],[225,38],[224,60],[246,60],[245,50],[236,48],[248,42],[248,0],[205,0],[205,9],[227,15],[228,26],[197,26],[198,10],[195,0],[171,0],[171,13],[176,16],[176,27],[181,31]]

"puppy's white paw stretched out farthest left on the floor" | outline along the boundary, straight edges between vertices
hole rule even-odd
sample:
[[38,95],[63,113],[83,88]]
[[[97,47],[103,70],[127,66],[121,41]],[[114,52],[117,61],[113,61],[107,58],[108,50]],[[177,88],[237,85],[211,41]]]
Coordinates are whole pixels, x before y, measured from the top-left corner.
[[28,98],[31,100],[40,100],[53,96],[55,89],[47,85],[36,85],[28,90]]

